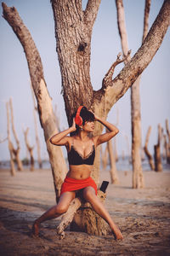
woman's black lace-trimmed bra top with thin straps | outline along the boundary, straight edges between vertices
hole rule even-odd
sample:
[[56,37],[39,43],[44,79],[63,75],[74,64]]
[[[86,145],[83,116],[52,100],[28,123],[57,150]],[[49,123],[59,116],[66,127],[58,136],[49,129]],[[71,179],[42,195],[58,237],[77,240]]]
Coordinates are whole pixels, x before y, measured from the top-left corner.
[[68,152],[68,161],[69,165],[72,166],[81,166],[81,165],[94,165],[94,157],[95,157],[95,148],[93,145],[92,151],[86,156],[83,157],[82,154],[78,153],[77,150],[74,148],[73,142],[71,145],[71,150]]

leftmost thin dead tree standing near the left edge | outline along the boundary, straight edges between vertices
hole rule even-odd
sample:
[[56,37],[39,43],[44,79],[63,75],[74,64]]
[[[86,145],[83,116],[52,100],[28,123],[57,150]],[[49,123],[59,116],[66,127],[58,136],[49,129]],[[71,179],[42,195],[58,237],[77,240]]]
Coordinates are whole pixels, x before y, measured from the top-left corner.
[[14,176],[16,174],[15,168],[14,168],[14,158],[13,158],[13,150],[14,146],[11,142],[10,137],[10,120],[9,120],[9,109],[8,109],[8,102],[6,102],[6,108],[7,108],[7,137],[8,137],[8,150],[10,154],[10,172],[11,175]]

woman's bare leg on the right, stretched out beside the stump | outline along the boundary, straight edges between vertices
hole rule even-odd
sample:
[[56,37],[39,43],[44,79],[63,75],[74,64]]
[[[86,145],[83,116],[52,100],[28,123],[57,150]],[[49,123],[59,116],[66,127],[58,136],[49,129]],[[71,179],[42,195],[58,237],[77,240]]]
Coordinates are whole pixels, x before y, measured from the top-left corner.
[[110,225],[111,230],[116,236],[116,239],[122,239],[121,231],[111,219],[109,212],[107,212],[104,204],[99,200],[99,197],[95,195],[94,188],[87,187],[83,189],[83,197],[86,201],[90,202],[90,204],[94,208],[94,211],[97,212],[100,217],[104,218],[105,221]]

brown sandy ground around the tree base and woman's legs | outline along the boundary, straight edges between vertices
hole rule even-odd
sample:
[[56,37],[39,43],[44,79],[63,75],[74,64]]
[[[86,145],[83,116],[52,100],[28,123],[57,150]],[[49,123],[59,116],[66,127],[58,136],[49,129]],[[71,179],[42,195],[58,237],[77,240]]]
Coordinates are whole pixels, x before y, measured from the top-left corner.
[[[55,204],[50,170],[0,170],[0,255],[170,255],[170,172],[144,172],[145,188],[131,189],[132,172],[118,172],[121,183],[110,184],[105,206],[119,225],[123,241],[65,231],[59,240],[59,219],[42,224],[40,237],[31,224]],[[101,172],[110,180],[109,172]]]

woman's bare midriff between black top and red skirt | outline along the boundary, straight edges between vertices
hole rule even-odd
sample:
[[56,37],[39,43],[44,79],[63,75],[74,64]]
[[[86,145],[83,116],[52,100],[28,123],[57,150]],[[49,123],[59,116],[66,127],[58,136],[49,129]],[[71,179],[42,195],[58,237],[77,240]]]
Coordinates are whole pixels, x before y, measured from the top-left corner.
[[92,166],[82,165],[82,166],[70,166],[69,172],[67,172],[67,177],[76,179],[86,179],[90,177],[92,171]]

